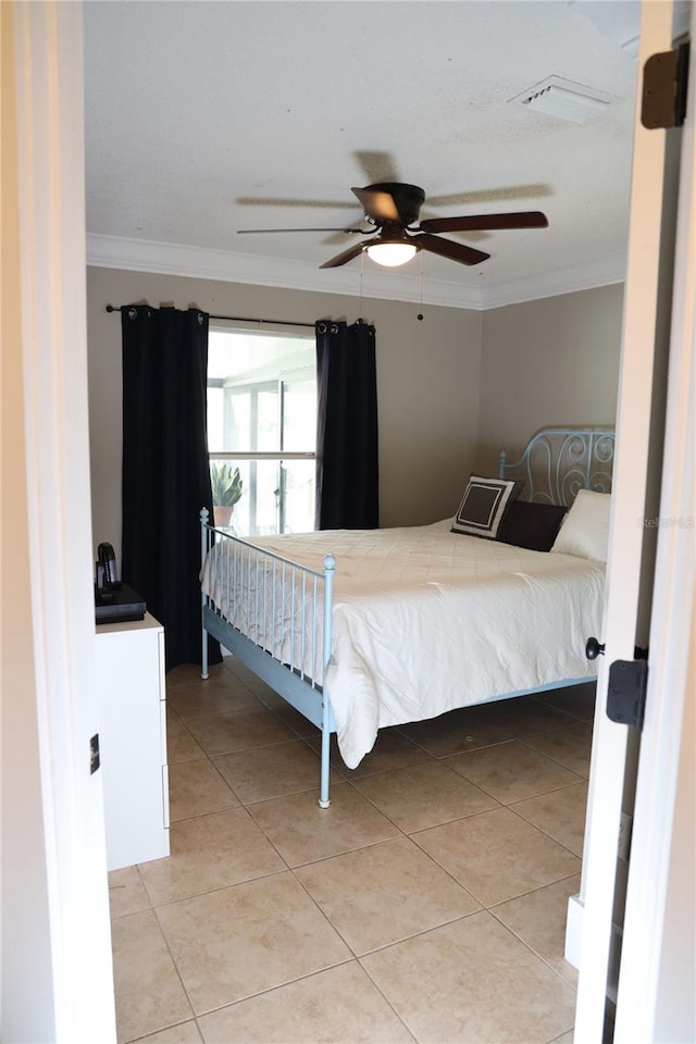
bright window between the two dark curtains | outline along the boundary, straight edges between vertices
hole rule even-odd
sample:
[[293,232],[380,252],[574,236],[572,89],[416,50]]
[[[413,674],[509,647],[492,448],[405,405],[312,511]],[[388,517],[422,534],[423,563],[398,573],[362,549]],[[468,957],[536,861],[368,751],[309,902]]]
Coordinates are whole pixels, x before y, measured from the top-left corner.
[[208,448],[216,524],[240,536],[314,529],[313,335],[211,328]]

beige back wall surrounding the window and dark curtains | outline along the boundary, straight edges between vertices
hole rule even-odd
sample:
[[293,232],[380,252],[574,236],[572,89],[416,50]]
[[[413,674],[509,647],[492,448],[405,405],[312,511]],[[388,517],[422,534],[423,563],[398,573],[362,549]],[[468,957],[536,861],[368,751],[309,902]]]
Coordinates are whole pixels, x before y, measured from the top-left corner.
[[[90,268],[87,273],[92,532],[121,545],[121,318],[105,306],[195,304],[217,315],[376,327],[382,525],[453,513],[478,427],[481,314],[394,301]],[[424,319],[418,320],[422,312]]]

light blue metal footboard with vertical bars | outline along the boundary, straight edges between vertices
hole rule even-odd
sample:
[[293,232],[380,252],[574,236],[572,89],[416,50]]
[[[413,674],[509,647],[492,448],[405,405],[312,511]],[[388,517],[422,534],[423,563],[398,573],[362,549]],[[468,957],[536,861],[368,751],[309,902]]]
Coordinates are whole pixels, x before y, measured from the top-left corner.
[[209,673],[210,634],[320,729],[319,804],[327,808],[335,559],[327,555],[316,572],[210,525],[206,508],[200,526],[201,678]]

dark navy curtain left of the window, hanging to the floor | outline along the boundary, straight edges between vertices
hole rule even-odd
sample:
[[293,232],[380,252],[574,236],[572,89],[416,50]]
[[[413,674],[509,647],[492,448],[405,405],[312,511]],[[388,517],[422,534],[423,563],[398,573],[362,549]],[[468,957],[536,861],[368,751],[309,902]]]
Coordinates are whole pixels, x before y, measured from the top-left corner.
[[[166,670],[200,663],[200,524],[212,518],[208,315],[123,307],[122,579],[164,626]],[[211,639],[211,662],[220,647]]]

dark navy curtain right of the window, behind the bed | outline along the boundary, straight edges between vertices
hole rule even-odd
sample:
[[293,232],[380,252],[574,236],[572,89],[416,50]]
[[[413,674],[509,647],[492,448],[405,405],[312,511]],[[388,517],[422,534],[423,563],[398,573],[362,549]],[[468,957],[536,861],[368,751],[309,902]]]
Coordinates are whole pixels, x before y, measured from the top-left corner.
[[374,326],[322,320],[316,332],[316,529],[380,524]]

